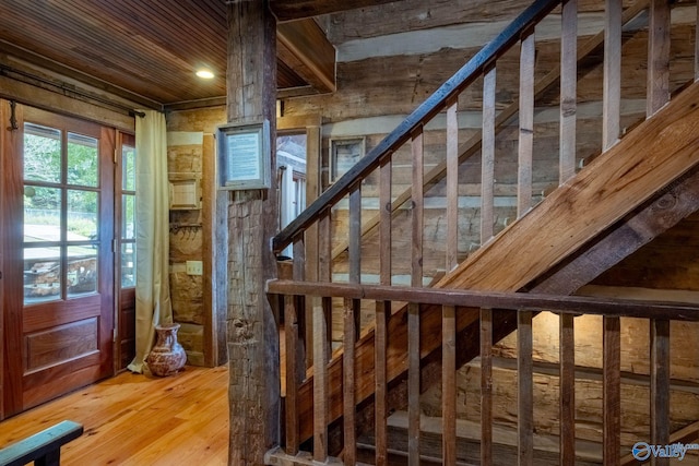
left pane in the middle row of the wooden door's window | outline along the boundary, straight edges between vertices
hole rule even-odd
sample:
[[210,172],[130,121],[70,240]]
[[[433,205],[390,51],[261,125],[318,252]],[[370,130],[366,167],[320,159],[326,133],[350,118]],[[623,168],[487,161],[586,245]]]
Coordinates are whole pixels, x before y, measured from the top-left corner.
[[24,241],[61,240],[61,190],[24,187]]

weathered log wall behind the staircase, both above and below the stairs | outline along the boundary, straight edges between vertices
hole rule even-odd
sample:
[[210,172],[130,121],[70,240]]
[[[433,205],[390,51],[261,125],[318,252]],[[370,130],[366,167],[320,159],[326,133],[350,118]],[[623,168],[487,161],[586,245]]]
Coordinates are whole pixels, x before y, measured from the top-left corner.
[[[529,2],[526,2],[529,3]],[[624,2],[628,7],[631,2]],[[323,117],[324,166],[329,164],[330,140],[334,138],[365,138],[366,150],[370,151],[391,131],[402,118],[412,111],[423,99],[449,77],[467,58],[473,56],[482,44],[469,43],[473,36],[487,40],[488,28],[478,28],[481,24],[469,24],[470,19],[486,16],[495,22],[509,20],[519,13],[524,4],[516,1],[502,2],[425,2],[404,0],[396,4],[380,8],[366,8],[353,12],[334,14],[324,19],[324,25],[331,41],[339,50],[337,92],[322,96],[286,99],[286,116],[319,113]],[[602,2],[579,2],[580,11],[595,23],[603,20]],[[685,10],[683,10],[685,9]],[[696,19],[694,7],[680,5],[674,17],[686,17],[686,24],[676,24],[672,33],[674,57],[671,68],[671,88],[677,88],[692,76],[694,34],[691,24]],[[679,23],[682,23],[680,20]],[[596,23],[595,23],[596,24]],[[501,26],[494,25],[499,32]],[[450,43],[451,28],[469,31],[464,33],[462,44]],[[589,35],[593,26],[579,26],[582,35]],[[473,34],[478,31],[481,34]],[[428,34],[429,33],[429,34]],[[547,31],[537,31],[535,76],[540,79],[552,70],[559,59],[557,40],[546,38]],[[465,38],[467,37],[467,38]],[[446,38],[439,43],[440,38]],[[418,51],[410,50],[408,45],[422,47],[420,41],[433,41],[429,47]],[[465,44],[465,45],[464,45]],[[626,33],[623,45],[621,69],[621,132],[637,124],[645,112],[645,68],[648,35],[644,29],[635,35]],[[686,59],[682,59],[686,57]],[[680,58],[679,60],[675,60]],[[577,121],[577,160],[578,167],[602,151],[602,51],[593,52],[591,58],[579,64],[578,82],[578,121]],[[496,108],[517,101],[519,98],[519,50],[498,60],[498,81]],[[512,70],[502,72],[501,70]],[[465,141],[479,131],[482,83],[466,91],[459,99],[459,140]],[[533,196],[534,202],[541,195],[557,186],[558,180],[558,86],[553,86],[535,101]],[[443,119],[446,120],[446,118]],[[497,234],[508,222],[517,216],[517,121],[511,122],[496,138],[496,225]],[[446,124],[426,128],[425,164],[427,169],[442,162],[446,154]],[[393,163],[393,189],[401,192],[411,183],[410,147],[399,153],[399,162]],[[403,160],[401,163],[400,160]],[[462,164],[459,172],[459,260],[463,260],[479,243],[479,204],[477,195],[481,174],[481,157],[476,154]],[[324,174],[328,186],[328,174]],[[443,182],[425,193],[424,229],[424,272],[425,283],[437,277],[445,268],[446,212]],[[370,178],[362,186],[363,218],[378,214],[378,180]],[[345,241],[348,235],[348,213],[345,203],[333,211],[333,246]],[[545,228],[545,226],[542,226]],[[696,289],[697,261],[694,238],[697,229],[685,225],[675,235],[659,239],[624,261],[615,270],[599,279],[600,285],[642,286],[648,288]],[[410,215],[401,210],[392,224],[392,264],[394,282],[410,283]],[[684,238],[684,240],[683,240]],[[686,238],[691,238],[686,240]],[[678,242],[686,246],[674,250]],[[674,251],[674,252],[673,252]],[[362,279],[376,283],[380,271],[380,244],[378,231],[362,240]],[[665,273],[667,271],[667,273]],[[346,279],[350,274],[346,253],[339,255],[333,263],[336,279]],[[662,295],[661,295],[662,296]],[[341,306],[337,302],[336,306]],[[363,310],[363,325],[372,320],[374,310]],[[555,325],[552,323],[555,321]],[[557,318],[541,314],[534,319],[534,406],[535,430],[556,435],[559,427],[556,422],[559,414],[558,373],[553,365],[558,363],[558,324]],[[602,438],[602,322],[596,318],[576,319],[576,419],[577,435],[592,442]],[[691,339],[697,324],[675,324],[671,330],[671,354],[673,378],[671,410],[671,432],[697,419],[699,413],[694,407],[699,399],[699,372],[696,348],[687,348],[683,342]],[[649,413],[649,328],[648,323],[632,319],[621,321],[621,371],[624,372],[623,430],[621,443],[631,445],[639,439],[648,439],[650,426]],[[340,313],[333,318],[333,338],[342,335]],[[511,335],[495,348],[496,369],[494,371],[494,417],[497,423],[516,428],[517,413],[517,334]],[[460,409],[458,417],[464,421],[479,420],[477,394],[479,393],[479,367],[477,362],[463,368],[458,375]],[[426,416],[440,416],[441,387],[430,389],[422,398],[423,413]],[[691,408],[685,408],[691,405]]]

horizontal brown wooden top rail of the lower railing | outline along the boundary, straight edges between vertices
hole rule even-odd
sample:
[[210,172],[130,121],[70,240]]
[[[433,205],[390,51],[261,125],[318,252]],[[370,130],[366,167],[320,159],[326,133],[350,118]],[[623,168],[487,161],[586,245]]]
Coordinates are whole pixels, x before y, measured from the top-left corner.
[[699,321],[699,304],[691,302],[638,301],[582,296],[540,295],[534,292],[486,292],[451,288],[435,289],[276,279],[268,282],[266,292],[272,295],[368,299],[462,308],[513,309],[518,311],[552,310],[576,315],[592,314]]

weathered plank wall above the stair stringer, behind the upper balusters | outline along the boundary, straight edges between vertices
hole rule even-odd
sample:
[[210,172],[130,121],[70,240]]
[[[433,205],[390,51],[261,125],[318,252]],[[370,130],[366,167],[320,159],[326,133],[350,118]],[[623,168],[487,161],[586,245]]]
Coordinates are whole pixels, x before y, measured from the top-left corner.
[[[580,10],[582,14],[591,14],[595,7],[592,2],[581,2]],[[509,3],[507,3],[509,5]],[[406,16],[420,17],[420,14],[427,16],[423,11],[425,7],[408,2],[407,8],[412,11],[399,13],[393,11],[398,17]],[[603,5],[597,5],[599,12]],[[464,7],[467,8],[467,7]],[[506,8],[507,9],[507,8]],[[368,22],[375,24],[376,19],[369,19],[369,12],[363,11],[358,15]],[[458,10],[458,9],[454,9]],[[377,13],[378,10],[374,10]],[[440,14],[430,9],[430,14]],[[356,36],[356,32],[352,34],[347,27],[356,24],[359,20],[350,13],[337,14],[331,17],[330,31],[339,47],[339,91],[332,95],[310,96],[298,99],[288,99],[284,103],[286,116],[304,115],[306,112],[319,112],[323,115],[325,124],[323,124],[323,153],[329,151],[329,140],[332,138],[366,138],[367,151],[377,145],[383,138],[386,132],[400,121],[400,118],[411,111],[422,99],[434,91],[455,68],[463,63],[464,57],[469,57],[475,52],[475,48],[466,49],[438,49],[434,51],[425,51],[422,53],[396,52],[398,55],[387,55],[381,57],[368,56],[367,58],[356,59],[352,61],[343,61],[343,50],[346,56],[358,53],[356,50],[366,46],[366,40],[372,40],[389,34],[390,25],[394,25],[392,33],[399,31],[396,24],[398,19],[393,19],[388,14],[381,16],[383,25],[379,31],[371,33],[367,27],[362,28],[362,37]],[[407,21],[407,20],[406,20]],[[425,32],[435,24],[442,24],[446,21],[441,19],[425,20],[424,23],[408,27],[405,40],[410,40],[411,33],[417,35]],[[408,21],[408,23],[411,23]],[[378,26],[377,26],[378,27]],[[405,28],[405,24],[401,24]],[[410,31],[413,28],[414,31]],[[582,25],[580,34],[589,34],[590,27]],[[402,31],[402,29],[401,29]],[[382,33],[381,33],[382,32]],[[691,36],[691,24],[675,27],[673,35],[673,52],[677,56],[691,56],[692,44],[685,40],[688,35]],[[544,32],[545,34],[545,32]],[[540,38],[537,33],[537,43],[535,46],[536,62],[534,68],[534,76],[541,79],[548,72],[554,63],[558,62],[559,48],[558,45],[547,39]],[[351,38],[352,37],[352,38]],[[401,36],[403,37],[403,36]],[[388,38],[387,38],[388,40]],[[582,39],[581,39],[582,40]],[[387,52],[388,53],[388,52]],[[644,88],[643,86],[633,87],[631,83],[638,82],[639,69],[644,67],[647,56],[647,35],[641,32],[633,38],[624,44],[624,69],[620,70],[620,96],[619,105],[619,127],[620,132],[632,126],[642,118],[644,113]],[[352,55],[354,57],[354,55]],[[499,70],[518,70],[519,69],[519,51],[508,53],[498,60]],[[691,76],[691,60],[687,61],[688,65],[675,67],[671,74],[671,87],[679,85],[687,76]],[[602,151],[602,126],[600,118],[602,116],[602,65],[592,68],[590,60],[582,63],[582,79],[578,83],[577,95],[579,98],[577,108],[578,124],[574,129],[574,138],[567,136],[564,141],[566,144],[574,144],[578,157],[570,160],[570,167],[576,169],[583,163],[583,159],[594,157]],[[390,70],[390,72],[387,72]],[[481,85],[476,83],[474,89],[479,89]],[[496,100],[495,106],[499,111],[505,106],[516,103],[519,99],[519,75],[513,73],[500,72],[496,83]],[[483,96],[475,91],[466,91],[459,98],[457,112],[459,119],[459,141],[466,141],[469,138],[479,131],[481,111]],[[558,89],[556,86],[549,93],[540,97],[534,105],[537,108],[536,119],[533,122],[533,147],[534,154],[532,160],[532,201],[535,204],[543,192],[548,191],[558,183],[558,163],[554,159],[560,144],[560,130],[558,128]],[[542,111],[542,108],[552,106],[552,112]],[[553,111],[555,110],[555,111]],[[448,116],[438,118],[439,124],[431,124],[425,129],[425,164],[426,169],[430,169],[445,159],[447,147],[445,146],[447,133]],[[496,202],[494,212],[494,234],[501,230],[506,224],[511,223],[517,217],[516,196],[517,170],[513,169],[518,163],[516,148],[519,145],[519,132],[516,127],[508,127],[495,138],[495,171],[494,186]],[[404,147],[396,154],[398,158],[393,164],[393,190],[398,192],[410,187],[410,148]],[[472,251],[481,242],[478,231],[479,223],[479,201],[474,195],[479,192],[479,174],[481,157],[475,157],[462,165],[459,170],[459,235],[457,247],[457,260],[463,260],[470,251]],[[566,175],[569,176],[569,175]],[[327,178],[325,178],[327,179]],[[445,248],[449,244],[447,240],[449,232],[447,228],[442,228],[447,224],[443,217],[446,206],[447,182],[442,181],[426,190],[425,198],[425,256],[424,270],[426,277],[436,276],[442,273],[448,265],[445,262]],[[394,195],[396,195],[394,194]],[[346,238],[347,213],[345,207],[341,205],[333,215],[333,247],[337,247]],[[370,218],[378,214],[378,179],[370,178],[363,184],[363,205],[365,207],[365,218]],[[436,206],[439,206],[437,208]],[[523,206],[519,207],[523,210]],[[400,251],[405,250],[406,242],[402,239],[410,238],[408,235],[402,235],[402,231],[408,231],[406,215],[398,214],[394,220],[394,230],[396,240],[393,242],[393,253],[399,260],[393,265],[393,273],[402,275],[406,280],[410,276],[410,263],[401,261],[404,254]],[[453,235],[453,234],[452,234]],[[365,274],[369,274],[368,279],[378,280],[379,261],[378,261],[378,234],[369,235],[363,241],[363,270]],[[346,276],[346,258],[341,258],[334,266],[333,273]]]

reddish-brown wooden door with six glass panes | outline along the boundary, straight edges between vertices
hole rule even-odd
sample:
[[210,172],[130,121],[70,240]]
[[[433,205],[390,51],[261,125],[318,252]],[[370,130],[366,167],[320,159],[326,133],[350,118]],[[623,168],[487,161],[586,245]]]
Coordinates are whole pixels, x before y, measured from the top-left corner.
[[3,160],[5,415],[114,373],[115,131],[17,117]]

